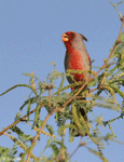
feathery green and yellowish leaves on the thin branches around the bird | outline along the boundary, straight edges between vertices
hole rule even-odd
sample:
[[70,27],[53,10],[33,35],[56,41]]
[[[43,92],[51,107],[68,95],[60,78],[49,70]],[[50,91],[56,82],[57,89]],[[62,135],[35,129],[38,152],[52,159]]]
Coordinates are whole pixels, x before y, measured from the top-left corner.
[[[124,39],[124,32],[121,35],[121,38]],[[78,71],[75,71],[75,72],[78,72]],[[92,72],[94,73],[95,71],[92,71]],[[31,90],[31,94],[29,95],[29,98],[23,104],[23,106],[20,107],[20,110],[23,110],[27,106],[27,119],[24,121],[27,124],[31,122],[32,123],[31,127],[38,132],[44,122],[44,121],[40,120],[41,107],[43,106],[46,109],[46,111],[49,113],[51,113],[56,108],[63,107],[63,105],[70,97],[72,97],[73,94],[77,93],[78,90],[75,90],[72,93],[66,92],[66,90],[73,86],[73,84],[69,85],[69,86],[64,86],[65,75],[58,72],[56,70],[56,67],[47,76],[46,81],[44,81],[44,82],[41,82],[38,79],[38,77],[36,77],[33,73],[25,73],[25,76],[30,77],[30,85],[22,84],[22,86],[29,87]],[[57,86],[55,86],[55,81],[57,81],[57,79],[60,79],[60,78],[61,78],[61,81],[59,83],[59,86],[57,87]],[[41,161],[47,161],[47,160],[51,161],[51,160],[55,159],[56,157],[61,159],[61,160],[68,159],[69,153],[67,153],[67,148],[64,145],[64,136],[65,136],[66,130],[68,127],[69,129],[77,129],[77,127],[75,127],[75,125],[72,124],[72,122],[69,124],[69,123],[67,123],[67,121],[69,121],[69,120],[77,121],[77,119],[78,119],[77,122],[80,125],[79,126],[80,130],[86,131],[86,130],[84,130],[85,122],[82,121],[83,119],[77,118],[77,117],[79,117],[78,109],[85,107],[85,110],[87,112],[92,112],[94,107],[102,107],[102,108],[112,109],[112,110],[121,112],[120,117],[116,117],[115,119],[111,119],[109,121],[102,121],[101,117],[97,117],[96,121],[95,121],[96,122],[95,129],[92,127],[92,122],[94,122],[94,121],[91,121],[88,123],[92,131],[91,132],[86,131],[86,132],[87,132],[89,138],[92,139],[92,141],[96,144],[98,151],[93,150],[92,148],[88,148],[88,147],[87,148],[91,152],[99,156],[99,158],[102,159],[102,161],[106,161],[106,158],[102,156],[102,152],[101,152],[101,150],[105,148],[104,147],[104,140],[108,141],[108,140],[112,140],[114,138],[114,134],[112,132],[112,127],[110,126],[110,123],[115,121],[119,118],[123,118],[123,116],[124,116],[123,104],[120,105],[115,98],[115,94],[118,94],[118,96],[120,96],[122,98],[122,100],[124,102],[124,93],[121,90],[122,86],[124,85],[124,79],[123,78],[124,78],[124,43],[122,42],[115,49],[110,62],[107,64],[102,73],[97,76],[94,80],[92,80],[88,83],[88,87],[91,87],[91,90],[94,86],[94,89],[93,89],[93,90],[95,90],[94,93],[91,92],[89,90],[84,90],[80,93],[80,95],[78,95],[78,97],[86,96],[89,100],[87,100],[86,103],[83,103],[84,100],[81,102],[81,99],[79,100],[78,98],[75,98],[71,103],[67,104],[64,108],[61,108],[60,111],[56,111],[55,121],[56,121],[56,125],[58,126],[58,135],[61,136],[61,140],[54,139],[55,136],[54,136],[53,125],[45,124],[45,127],[47,129],[49,133],[47,132],[42,132],[42,133],[45,134],[46,136],[50,136],[50,138],[47,140],[46,146],[44,147],[44,149],[41,152],[40,160]],[[38,89],[36,87],[37,81],[38,81],[38,86],[39,86]],[[11,91],[17,86],[20,86],[20,84],[11,87],[9,91]],[[9,92],[9,91],[6,91],[6,92]],[[44,95],[46,91],[51,92],[50,96]],[[105,93],[107,95],[105,95]],[[30,120],[30,113],[29,112],[30,112],[32,104],[36,104],[36,111],[35,111],[36,114],[35,114],[35,119]],[[75,105],[73,108],[73,111],[71,111],[72,105]],[[20,112],[17,113],[17,116],[15,118],[15,122],[19,119],[20,119]],[[99,129],[98,129],[99,125],[100,126],[101,125],[105,125],[105,126],[109,125],[111,134],[107,134],[106,136],[101,136]],[[29,147],[27,145],[27,143],[31,141],[33,137],[30,135],[26,135],[16,125],[11,127],[11,131],[17,134],[18,139],[14,138],[12,136],[9,136],[9,137],[16,144],[16,146],[19,146],[24,150],[27,150]],[[72,136],[72,134],[70,134],[70,143],[72,143],[72,141],[73,141],[73,136]],[[44,150],[47,149],[49,147],[52,148],[52,150],[53,150],[52,156],[51,157],[43,156]],[[1,148],[1,150],[3,151],[3,148]],[[12,151],[12,149],[5,150],[5,153],[9,156],[10,151]],[[61,154],[61,152],[63,152],[63,154]],[[28,151],[27,151],[27,153],[28,153]],[[22,156],[22,159],[24,159],[25,156],[26,156],[26,153],[24,153]],[[31,158],[33,160],[37,159],[36,157],[33,157],[33,154]]]

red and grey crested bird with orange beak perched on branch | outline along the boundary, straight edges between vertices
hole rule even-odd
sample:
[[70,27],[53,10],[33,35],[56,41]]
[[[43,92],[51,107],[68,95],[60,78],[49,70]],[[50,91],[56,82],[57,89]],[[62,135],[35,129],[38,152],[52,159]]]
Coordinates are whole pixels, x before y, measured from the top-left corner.
[[[83,35],[73,31],[67,31],[61,37],[61,41],[64,41],[67,49],[65,70],[82,70],[81,75],[72,73],[74,80],[71,77],[67,77],[68,82],[71,84],[73,82],[87,81],[91,78],[89,70],[92,69],[91,58],[83,41],[87,41],[87,39]],[[84,117],[84,120],[87,121],[85,110],[80,108],[80,112]],[[79,135],[80,134],[78,133],[75,136]]]

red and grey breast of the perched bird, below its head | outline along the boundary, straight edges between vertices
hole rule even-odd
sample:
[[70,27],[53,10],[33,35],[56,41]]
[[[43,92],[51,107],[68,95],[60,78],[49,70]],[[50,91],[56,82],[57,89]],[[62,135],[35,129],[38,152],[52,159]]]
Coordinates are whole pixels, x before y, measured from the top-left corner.
[[[89,58],[87,53],[83,53],[82,51],[73,50],[71,52],[66,53],[65,56],[65,69],[74,69],[74,70],[81,70],[80,73],[71,73],[74,78],[74,81],[85,81],[88,80],[91,75],[88,72],[89,70]],[[67,78],[69,83],[72,83],[71,78]]]

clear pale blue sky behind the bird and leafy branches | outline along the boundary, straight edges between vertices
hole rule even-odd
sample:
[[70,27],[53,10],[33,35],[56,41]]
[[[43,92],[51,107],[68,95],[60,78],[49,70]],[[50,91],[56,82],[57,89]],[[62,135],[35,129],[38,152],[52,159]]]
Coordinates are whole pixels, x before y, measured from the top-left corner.
[[[111,0],[118,3],[118,0]],[[124,3],[119,5],[119,11],[124,14]],[[56,64],[57,70],[64,72],[65,45],[60,36],[66,31],[77,31],[84,35],[88,42],[85,43],[94,66],[102,66],[110,49],[119,35],[121,21],[114,8],[108,0],[0,0],[0,94],[9,87],[29,83],[29,78],[22,73],[35,71],[41,81],[54,68],[51,62]],[[95,69],[96,70],[96,69]],[[65,85],[68,82],[66,81]],[[30,91],[26,87],[17,87],[0,97],[0,129],[13,123],[16,112],[24,104]],[[112,119],[120,113],[106,110],[104,119]],[[23,110],[26,113],[26,109]],[[96,108],[94,113],[102,113]],[[43,119],[45,118],[43,113]],[[53,122],[54,117],[50,119]],[[27,134],[32,133],[26,124],[18,124]],[[124,143],[124,121],[118,120],[112,124],[116,139]],[[108,129],[107,129],[108,130]],[[106,131],[106,127],[105,130]],[[36,135],[36,133],[32,133]],[[40,154],[46,137],[37,146],[33,153]],[[72,153],[80,138],[73,144],[66,139],[68,152]],[[5,136],[0,137],[0,146],[11,148],[13,143]],[[51,149],[45,153],[51,153]],[[109,162],[123,162],[124,145],[111,141],[106,145],[104,154]],[[100,159],[80,148],[71,161],[100,162]]]

